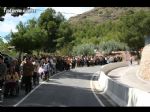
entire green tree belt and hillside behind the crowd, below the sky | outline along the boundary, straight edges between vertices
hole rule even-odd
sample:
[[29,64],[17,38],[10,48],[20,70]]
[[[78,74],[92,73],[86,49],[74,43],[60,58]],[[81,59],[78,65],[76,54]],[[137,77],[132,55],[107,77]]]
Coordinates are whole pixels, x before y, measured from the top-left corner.
[[10,33],[9,43],[20,52],[92,55],[95,49],[138,51],[150,35],[150,8],[96,7],[69,20],[49,8],[38,19],[20,22],[17,29]]

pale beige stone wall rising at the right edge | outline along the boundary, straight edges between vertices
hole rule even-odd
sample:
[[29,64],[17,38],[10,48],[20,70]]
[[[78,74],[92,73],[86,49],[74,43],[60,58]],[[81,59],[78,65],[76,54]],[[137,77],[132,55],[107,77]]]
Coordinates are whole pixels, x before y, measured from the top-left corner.
[[142,51],[142,58],[137,75],[144,80],[150,80],[150,44],[146,45]]

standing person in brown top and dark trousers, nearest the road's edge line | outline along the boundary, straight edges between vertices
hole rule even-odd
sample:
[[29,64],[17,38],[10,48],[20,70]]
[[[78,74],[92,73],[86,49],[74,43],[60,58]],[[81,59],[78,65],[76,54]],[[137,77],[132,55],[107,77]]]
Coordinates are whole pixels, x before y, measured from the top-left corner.
[[23,80],[25,84],[25,94],[28,94],[32,89],[32,76],[34,66],[29,57],[26,58],[26,63],[23,65]]

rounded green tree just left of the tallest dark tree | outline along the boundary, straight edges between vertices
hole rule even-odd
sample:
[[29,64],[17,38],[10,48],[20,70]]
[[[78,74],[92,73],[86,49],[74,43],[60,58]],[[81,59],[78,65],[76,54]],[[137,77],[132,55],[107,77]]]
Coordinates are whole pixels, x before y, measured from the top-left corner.
[[18,32],[11,34],[11,44],[16,46],[16,50],[20,52],[42,49],[47,41],[47,32],[38,26],[34,18],[26,24],[20,22],[17,29]]

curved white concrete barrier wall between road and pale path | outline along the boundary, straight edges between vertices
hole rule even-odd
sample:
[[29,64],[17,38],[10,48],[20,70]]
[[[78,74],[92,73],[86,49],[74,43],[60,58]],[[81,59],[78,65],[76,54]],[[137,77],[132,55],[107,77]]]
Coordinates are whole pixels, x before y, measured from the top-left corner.
[[119,62],[105,65],[98,79],[100,90],[120,106],[150,106],[150,93],[123,85],[106,75],[111,70],[124,66],[128,66],[128,63]]

